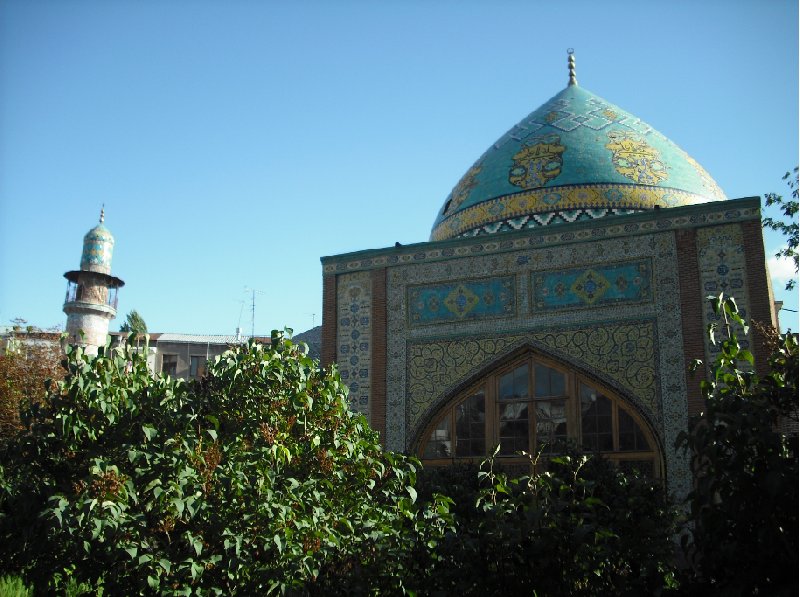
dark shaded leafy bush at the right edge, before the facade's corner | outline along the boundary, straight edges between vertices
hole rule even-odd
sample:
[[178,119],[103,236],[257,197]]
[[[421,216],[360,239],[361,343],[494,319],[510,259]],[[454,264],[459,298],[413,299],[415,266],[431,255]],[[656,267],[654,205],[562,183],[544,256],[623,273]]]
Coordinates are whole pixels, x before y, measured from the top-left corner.
[[699,592],[797,595],[797,338],[772,332],[769,371],[759,377],[731,331],[747,333],[734,300],[713,305],[719,357],[701,382],[705,411],[679,438],[695,475],[684,547]]

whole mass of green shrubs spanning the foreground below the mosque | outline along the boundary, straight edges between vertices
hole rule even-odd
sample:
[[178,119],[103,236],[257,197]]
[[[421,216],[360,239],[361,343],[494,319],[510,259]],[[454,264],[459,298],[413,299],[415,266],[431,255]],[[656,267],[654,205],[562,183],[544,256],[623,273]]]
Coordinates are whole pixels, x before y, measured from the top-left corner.
[[793,594],[797,342],[775,335],[758,378],[723,336],[681,438],[697,483],[680,588],[660,483],[578,452],[418,479],[280,335],[189,383],[152,375],[135,334],[69,348],[0,454],[0,575],[62,594]]

